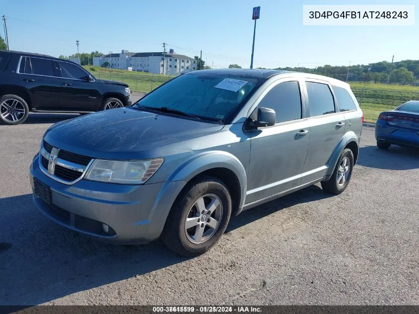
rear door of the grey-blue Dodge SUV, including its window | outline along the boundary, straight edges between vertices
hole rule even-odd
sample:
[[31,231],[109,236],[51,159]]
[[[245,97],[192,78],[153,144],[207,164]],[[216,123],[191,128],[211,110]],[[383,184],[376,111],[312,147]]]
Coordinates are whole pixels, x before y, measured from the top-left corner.
[[345,134],[345,117],[335,104],[331,86],[326,81],[306,79],[304,91],[310,136],[301,184],[326,175],[326,164]]

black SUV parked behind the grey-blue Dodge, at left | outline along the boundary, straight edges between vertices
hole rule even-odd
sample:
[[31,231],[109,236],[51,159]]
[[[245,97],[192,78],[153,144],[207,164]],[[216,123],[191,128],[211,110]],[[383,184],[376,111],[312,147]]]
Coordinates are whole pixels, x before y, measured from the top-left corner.
[[29,111],[90,113],[130,106],[125,83],[99,80],[76,63],[0,51],[0,121],[18,125]]

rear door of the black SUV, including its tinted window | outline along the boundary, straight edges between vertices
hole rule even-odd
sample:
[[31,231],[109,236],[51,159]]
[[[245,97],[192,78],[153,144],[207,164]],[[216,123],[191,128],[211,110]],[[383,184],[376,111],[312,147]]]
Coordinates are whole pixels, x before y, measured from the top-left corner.
[[18,74],[29,91],[32,109],[54,110],[60,107],[60,77],[51,59],[21,57]]

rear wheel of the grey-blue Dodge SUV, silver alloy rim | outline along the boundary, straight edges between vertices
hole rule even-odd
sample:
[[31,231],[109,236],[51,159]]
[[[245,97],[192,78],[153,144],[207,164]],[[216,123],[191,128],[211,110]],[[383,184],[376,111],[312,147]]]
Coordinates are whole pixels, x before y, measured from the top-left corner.
[[321,187],[332,194],[342,193],[348,187],[353,169],[354,154],[352,150],[345,148],[339,157],[332,176],[328,181],[320,182]]

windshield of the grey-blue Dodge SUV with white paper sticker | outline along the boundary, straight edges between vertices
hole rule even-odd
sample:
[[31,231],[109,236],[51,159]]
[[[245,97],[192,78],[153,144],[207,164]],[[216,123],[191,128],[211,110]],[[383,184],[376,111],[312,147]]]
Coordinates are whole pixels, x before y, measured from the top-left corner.
[[226,123],[261,81],[221,74],[181,75],[137,102],[149,109],[168,108],[201,120]]

